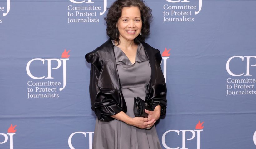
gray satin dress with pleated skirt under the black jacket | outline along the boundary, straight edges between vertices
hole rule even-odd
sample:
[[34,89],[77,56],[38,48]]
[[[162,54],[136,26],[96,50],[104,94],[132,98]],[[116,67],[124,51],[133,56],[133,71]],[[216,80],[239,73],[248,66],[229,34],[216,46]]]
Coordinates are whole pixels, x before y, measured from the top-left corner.
[[[113,43],[113,41],[112,41]],[[113,45],[115,45],[113,43]],[[145,99],[151,68],[143,45],[138,45],[135,63],[132,64],[125,53],[114,47],[121,90],[125,98],[127,112],[133,113],[134,97]],[[96,119],[93,137],[93,149],[161,149],[155,126],[151,129],[139,129],[119,120],[102,122]]]

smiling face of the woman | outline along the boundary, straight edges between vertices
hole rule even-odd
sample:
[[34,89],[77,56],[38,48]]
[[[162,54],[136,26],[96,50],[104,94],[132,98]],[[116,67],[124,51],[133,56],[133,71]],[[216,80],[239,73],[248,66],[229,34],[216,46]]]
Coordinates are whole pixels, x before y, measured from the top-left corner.
[[138,7],[123,7],[122,15],[116,26],[119,31],[120,41],[133,41],[141,31],[142,20]]

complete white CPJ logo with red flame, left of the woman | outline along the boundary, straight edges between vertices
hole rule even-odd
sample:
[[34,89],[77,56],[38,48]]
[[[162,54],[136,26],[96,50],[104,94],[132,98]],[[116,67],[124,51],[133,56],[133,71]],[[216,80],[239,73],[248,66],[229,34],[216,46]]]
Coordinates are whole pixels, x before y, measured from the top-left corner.
[[[70,51],[70,50],[69,50]],[[27,99],[29,98],[58,98],[59,94],[58,91],[62,91],[65,86],[66,86],[66,63],[67,60],[69,60],[69,56],[68,53],[69,51],[66,51],[66,49],[64,50],[64,52],[61,55],[61,59],[57,59],[57,58],[46,58],[46,59],[42,59],[42,58],[34,58],[30,61],[28,61],[27,63],[27,75],[33,79],[33,80],[29,80],[27,82],[28,88],[27,88]],[[35,63],[31,68],[31,65]],[[53,67],[52,63],[57,63],[56,67]],[[35,66],[36,65],[36,66]],[[52,75],[52,70],[56,70],[61,68],[62,66],[62,70],[63,70],[63,81],[62,82],[58,82],[54,79],[54,75]],[[31,71],[32,69],[35,69],[35,67],[38,69],[39,67],[45,67],[46,68],[46,72],[42,72],[40,73],[40,75],[38,75],[38,72],[36,73],[36,71],[34,70],[33,74]],[[47,75],[47,77],[45,76]],[[57,79],[59,79],[59,77],[61,77],[60,75],[57,75]],[[41,79],[50,79],[49,81],[37,81],[37,80],[41,80]],[[62,86],[62,87],[61,87]]]

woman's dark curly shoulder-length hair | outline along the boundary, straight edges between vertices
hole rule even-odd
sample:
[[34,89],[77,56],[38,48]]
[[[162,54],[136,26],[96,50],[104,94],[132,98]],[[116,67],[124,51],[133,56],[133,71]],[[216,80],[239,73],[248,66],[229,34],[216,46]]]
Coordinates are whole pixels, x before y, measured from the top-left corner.
[[106,21],[106,30],[107,35],[111,38],[111,40],[114,40],[117,42],[117,44],[120,44],[119,40],[119,31],[116,28],[116,23],[118,19],[122,15],[122,9],[123,7],[131,7],[135,6],[140,9],[141,19],[142,19],[142,28],[141,33],[142,35],[137,36],[134,39],[135,44],[139,44],[141,41],[144,41],[145,38],[148,37],[150,34],[150,22],[152,21],[152,13],[151,9],[148,6],[145,6],[143,0],[116,0],[108,9],[108,13],[106,17],[104,18]]

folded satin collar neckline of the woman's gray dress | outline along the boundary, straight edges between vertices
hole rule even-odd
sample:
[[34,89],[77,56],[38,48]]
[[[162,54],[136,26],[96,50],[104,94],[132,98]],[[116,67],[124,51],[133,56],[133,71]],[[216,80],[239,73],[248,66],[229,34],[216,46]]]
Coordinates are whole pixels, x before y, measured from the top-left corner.
[[115,57],[116,57],[116,63],[118,62],[122,62],[126,65],[134,65],[137,62],[143,62],[143,61],[147,61],[148,58],[146,56],[145,53],[145,49],[142,45],[142,43],[140,43],[138,45],[137,48],[137,53],[136,53],[136,58],[135,58],[135,63],[131,63],[131,61],[129,60],[129,58],[126,56],[126,54],[123,52],[123,50],[120,47],[117,47],[114,43],[114,40],[112,40],[113,46],[114,46],[114,52],[115,52]]

